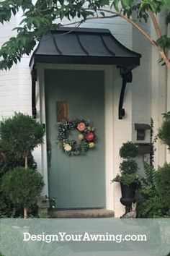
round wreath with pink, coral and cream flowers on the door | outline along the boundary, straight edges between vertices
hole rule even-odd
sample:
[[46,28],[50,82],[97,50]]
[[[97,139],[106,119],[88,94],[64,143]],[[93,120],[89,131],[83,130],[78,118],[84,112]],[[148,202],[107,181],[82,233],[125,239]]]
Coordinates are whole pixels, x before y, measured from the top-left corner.
[[[71,130],[75,129],[79,132],[80,143],[68,138]],[[67,120],[58,125],[58,144],[63,152],[68,155],[81,155],[90,148],[94,148],[95,137],[94,127],[90,127],[89,122],[85,120]]]

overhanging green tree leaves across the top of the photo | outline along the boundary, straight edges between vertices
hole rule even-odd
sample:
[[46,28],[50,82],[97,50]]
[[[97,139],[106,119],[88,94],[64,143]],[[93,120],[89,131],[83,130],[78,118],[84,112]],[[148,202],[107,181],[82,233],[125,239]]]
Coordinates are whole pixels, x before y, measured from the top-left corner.
[[[10,38],[0,50],[0,69],[10,69],[12,65],[21,60],[23,54],[29,55],[42,34],[50,33],[61,25],[63,18],[72,20],[79,18],[79,24],[89,17],[106,17],[109,14],[115,17],[124,15],[130,17],[136,12],[139,20],[147,22],[151,10],[158,14],[164,7],[170,7],[169,0],[4,0],[0,2],[0,22],[9,22],[12,15],[16,15],[22,9],[23,18],[18,27],[15,27],[17,35]],[[115,10],[112,10],[112,7]],[[169,17],[169,16],[168,16]],[[166,22],[169,22],[169,18]],[[169,47],[169,38],[163,36],[156,41],[161,48]]]

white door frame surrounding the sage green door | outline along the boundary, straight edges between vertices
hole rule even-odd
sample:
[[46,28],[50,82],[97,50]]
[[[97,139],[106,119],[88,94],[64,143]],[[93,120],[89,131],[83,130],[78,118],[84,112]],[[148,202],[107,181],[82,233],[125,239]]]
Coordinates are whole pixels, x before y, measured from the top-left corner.
[[[110,184],[114,176],[113,161],[113,124],[114,124],[114,74],[116,67],[111,65],[87,65],[87,64],[37,64],[37,119],[46,124],[45,115],[45,69],[66,70],[99,70],[104,72],[104,119],[105,119],[105,202],[106,209],[114,210],[114,188]],[[45,132],[44,143],[41,148],[42,175],[45,181],[43,193],[48,195],[48,153],[47,134]]]

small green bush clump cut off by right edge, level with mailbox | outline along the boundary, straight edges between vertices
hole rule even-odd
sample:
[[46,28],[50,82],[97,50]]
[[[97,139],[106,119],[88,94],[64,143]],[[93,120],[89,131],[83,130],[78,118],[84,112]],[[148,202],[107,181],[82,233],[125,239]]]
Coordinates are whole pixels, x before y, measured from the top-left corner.
[[164,113],[164,121],[158,130],[158,137],[168,145],[170,149],[170,112]]

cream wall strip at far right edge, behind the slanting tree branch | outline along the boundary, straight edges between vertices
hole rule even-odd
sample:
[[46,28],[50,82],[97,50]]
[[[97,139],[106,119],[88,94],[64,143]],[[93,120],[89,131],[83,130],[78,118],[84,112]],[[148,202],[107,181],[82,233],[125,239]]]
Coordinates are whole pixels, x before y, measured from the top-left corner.
[[[162,34],[168,31],[168,26],[164,22],[165,12],[158,16],[158,22],[161,26]],[[153,27],[152,27],[153,28]],[[151,30],[151,35],[156,38],[154,29]],[[158,128],[161,127],[163,116],[162,114],[170,110],[169,105],[169,71],[166,67],[158,64],[160,56],[158,52],[152,48],[152,69],[151,69],[151,116],[153,118],[154,135],[158,134]],[[155,143],[155,166],[163,166],[165,161],[170,161],[169,150],[166,145],[162,144],[160,140]]]

